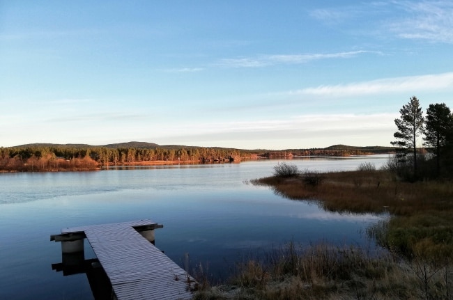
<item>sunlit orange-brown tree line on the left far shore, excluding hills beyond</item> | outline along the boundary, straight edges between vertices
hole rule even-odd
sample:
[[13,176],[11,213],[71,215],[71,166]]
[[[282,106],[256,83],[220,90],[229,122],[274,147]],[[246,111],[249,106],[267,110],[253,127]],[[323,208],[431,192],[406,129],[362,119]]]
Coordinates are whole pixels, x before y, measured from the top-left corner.
[[83,171],[144,161],[238,161],[252,152],[227,148],[108,148],[18,146],[0,148],[0,171]]

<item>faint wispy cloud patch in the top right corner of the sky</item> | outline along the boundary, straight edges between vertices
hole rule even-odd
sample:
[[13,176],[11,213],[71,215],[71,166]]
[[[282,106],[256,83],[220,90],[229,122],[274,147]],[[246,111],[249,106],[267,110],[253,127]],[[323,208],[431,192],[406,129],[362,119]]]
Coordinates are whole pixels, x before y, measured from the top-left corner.
[[362,33],[368,30],[374,35],[386,32],[404,39],[453,43],[453,2],[450,0],[371,1],[355,6],[318,8],[309,12],[309,16],[330,26],[348,26],[358,19],[367,19],[364,25],[368,29],[361,29]]

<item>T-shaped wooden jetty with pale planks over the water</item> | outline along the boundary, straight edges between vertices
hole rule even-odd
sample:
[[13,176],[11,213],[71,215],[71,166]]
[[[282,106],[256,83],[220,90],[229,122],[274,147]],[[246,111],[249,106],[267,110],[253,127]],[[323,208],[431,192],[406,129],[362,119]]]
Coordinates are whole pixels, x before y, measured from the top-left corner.
[[83,251],[86,238],[105,270],[114,299],[192,299],[196,284],[187,272],[156,248],[151,220],[63,228],[50,240],[64,253]]

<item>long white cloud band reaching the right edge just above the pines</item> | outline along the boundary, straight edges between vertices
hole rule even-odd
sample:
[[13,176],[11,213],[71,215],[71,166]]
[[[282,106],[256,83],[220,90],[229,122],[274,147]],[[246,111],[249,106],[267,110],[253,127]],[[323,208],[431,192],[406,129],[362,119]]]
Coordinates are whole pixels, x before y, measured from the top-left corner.
[[371,95],[379,93],[413,93],[414,90],[440,90],[453,88],[453,72],[423,76],[377,79],[353,84],[318,86],[289,92],[291,95],[324,95],[345,97],[352,95]]

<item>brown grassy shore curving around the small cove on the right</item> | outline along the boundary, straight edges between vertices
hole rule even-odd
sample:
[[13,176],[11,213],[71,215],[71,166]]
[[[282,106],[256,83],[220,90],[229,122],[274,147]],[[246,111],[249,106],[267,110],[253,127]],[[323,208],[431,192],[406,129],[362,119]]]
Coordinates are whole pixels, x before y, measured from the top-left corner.
[[369,234],[390,251],[291,243],[238,264],[229,285],[204,289],[195,299],[453,299],[452,182],[409,183],[387,171],[353,171],[253,183],[332,212],[389,212]]

